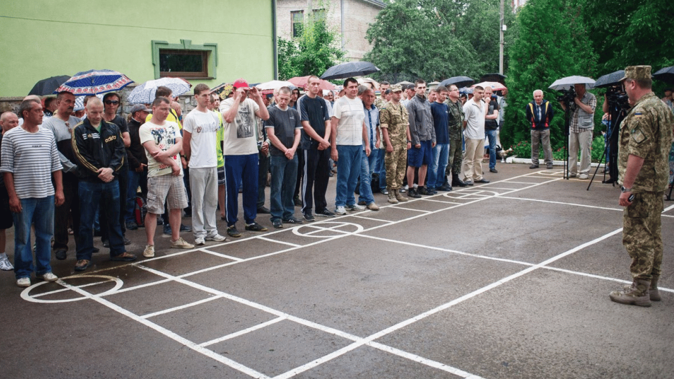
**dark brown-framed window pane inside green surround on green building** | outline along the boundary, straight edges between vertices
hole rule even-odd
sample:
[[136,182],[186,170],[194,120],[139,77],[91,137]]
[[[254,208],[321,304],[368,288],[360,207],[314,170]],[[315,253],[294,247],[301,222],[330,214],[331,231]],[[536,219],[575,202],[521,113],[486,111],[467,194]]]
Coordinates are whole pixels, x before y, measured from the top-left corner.
[[159,49],[159,76],[208,78],[208,51]]

